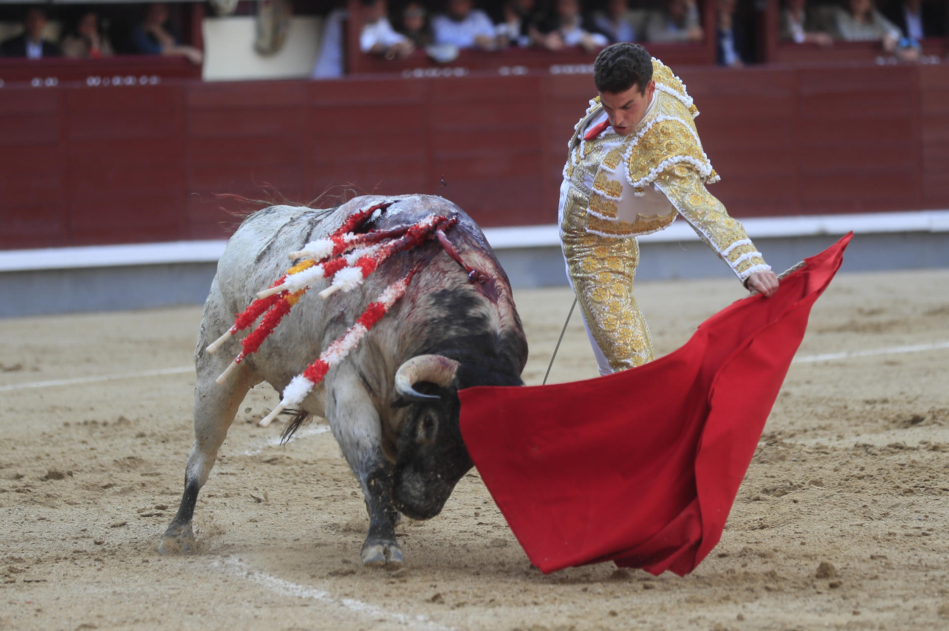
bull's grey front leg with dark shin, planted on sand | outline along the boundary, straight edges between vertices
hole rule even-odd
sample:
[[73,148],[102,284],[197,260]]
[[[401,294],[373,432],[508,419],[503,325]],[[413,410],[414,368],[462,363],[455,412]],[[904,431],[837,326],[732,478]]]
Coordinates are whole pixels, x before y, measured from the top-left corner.
[[363,543],[364,566],[400,567],[402,551],[396,541],[399,511],[392,503],[395,467],[382,454],[382,428],[363,381],[341,366],[327,384],[326,418],[349,467],[363,487],[369,513],[369,533]]

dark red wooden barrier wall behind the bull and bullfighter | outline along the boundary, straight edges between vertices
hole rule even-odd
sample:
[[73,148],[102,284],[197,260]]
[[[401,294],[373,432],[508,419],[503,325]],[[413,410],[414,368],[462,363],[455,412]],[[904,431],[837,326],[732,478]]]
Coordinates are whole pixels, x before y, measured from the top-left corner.
[[[949,65],[675,69],[736,216],[949,208]],[[438,193],[484,226],[553,223],[594,95],[540,71],[0,88],[0,248],[222,236],[240,204],[218,194]]]

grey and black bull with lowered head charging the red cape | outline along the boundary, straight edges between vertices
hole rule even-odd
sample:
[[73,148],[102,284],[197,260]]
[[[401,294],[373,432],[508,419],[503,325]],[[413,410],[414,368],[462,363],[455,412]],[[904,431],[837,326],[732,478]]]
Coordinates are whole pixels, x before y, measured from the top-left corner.
[[[239,344],[232,339],[214,354],[206,347],[228,330],[233,314],[256,291],[287,268],[287,253],[382,202],[391,205],[372,217],[374,230],[411,224],[430,213],[456,217],[448,236],[463,262],[480,272],[476,282],[438,241],[426,241],[387,259],[349,293],[324,301],[317,295],[320,287],[311,288],[256,354],[239,363],[222,385],[215,383]],[[283,391],[381,288],[409,269],[420,270],[400,302],[300,405],[302,414],[326,418],[362,487],[369,515],[363,564],[403,563],[395,533],[400,514],[434,517],[473,466],[458,424],[457,391],[521,385],[528,352],[510,283],[484,234],[455,204],[430,195],[366,195],[326,210],[273,206],[252,214],[233,234],[204,306],[195,349],[195,443],[181,504],[160,551],[194,548],[197,493],[251,387],[267,381]]]

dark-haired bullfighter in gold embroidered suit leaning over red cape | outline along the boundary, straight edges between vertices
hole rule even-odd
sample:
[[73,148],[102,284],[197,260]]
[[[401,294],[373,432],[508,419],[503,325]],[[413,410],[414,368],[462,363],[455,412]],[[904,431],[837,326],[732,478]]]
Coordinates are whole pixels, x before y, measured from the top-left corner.
[[570,285],[606,375],[654,359],[633,296],[637,236],[661,231],[681,214],[746,288],[771,296],[778,280],[705,188],[718,175],[679,77],[642,46],[621,43],[599,54],[593,80],[599,96],[569,142],[558,223]]

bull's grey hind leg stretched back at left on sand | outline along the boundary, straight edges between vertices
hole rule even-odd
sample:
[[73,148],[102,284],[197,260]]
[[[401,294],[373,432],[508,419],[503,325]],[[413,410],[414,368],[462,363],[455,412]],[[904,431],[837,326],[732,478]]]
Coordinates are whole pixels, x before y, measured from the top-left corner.
[[251,371],[247,365],[241,365],[227,381],[217,385],[214,380],[230,362],[227,354],[220,355],[220,358],[208,357],[199,351],[195,386],[195,444],[184,469],[184,495],[181,497],[181,505],[158,546],[158,551],[162,554],[187,554],[194,550],[195,533],[191,528],[191,520],[195,514],[197,492],[208,481],[217,450],[228,435],[238,406],[257,381],[251,379]]

